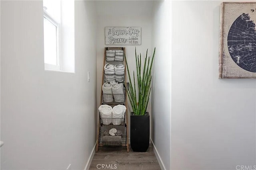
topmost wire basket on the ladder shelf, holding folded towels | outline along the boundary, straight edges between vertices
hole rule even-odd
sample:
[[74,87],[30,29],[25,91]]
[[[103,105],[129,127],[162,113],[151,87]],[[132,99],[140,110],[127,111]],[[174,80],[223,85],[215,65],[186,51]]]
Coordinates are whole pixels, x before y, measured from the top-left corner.
[[106,61],[124,61],[123,47],[107,47]]

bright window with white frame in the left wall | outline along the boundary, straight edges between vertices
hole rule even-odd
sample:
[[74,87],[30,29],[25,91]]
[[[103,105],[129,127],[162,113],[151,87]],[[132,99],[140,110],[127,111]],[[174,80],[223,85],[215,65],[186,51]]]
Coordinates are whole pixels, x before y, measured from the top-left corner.
[[43,0],[44,69],[74,72],[74,1]]

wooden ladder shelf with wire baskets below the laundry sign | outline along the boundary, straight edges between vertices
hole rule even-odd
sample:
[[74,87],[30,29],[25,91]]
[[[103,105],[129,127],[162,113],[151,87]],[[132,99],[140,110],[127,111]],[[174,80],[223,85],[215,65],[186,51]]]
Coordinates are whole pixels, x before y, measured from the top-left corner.
[[[99,147],[122,147],[126,148],[129,152],[128,143],[128,115],[127,115],[127,94],[126,94],[126,63],[124,60],[125,47],[105,47],[104,48],[104,62],[102,69],[102,86],[104,83],[109,84],[110,81],[116,80],[116,82],[123,84],[123,94],[103,94],[101,90],[100,104],[107,104],[111,107],[117,105],[124,105],[126,112],[124,118],[101,118],[99,114],[98,131],[96,152]],[[123,64],[124,74],[105,74],[104,66],[106,64]],[[122,90],[121,90],[122,91]],[[115,136],[106,136],[104,133],[109,129],[118,129],[121,134]]]

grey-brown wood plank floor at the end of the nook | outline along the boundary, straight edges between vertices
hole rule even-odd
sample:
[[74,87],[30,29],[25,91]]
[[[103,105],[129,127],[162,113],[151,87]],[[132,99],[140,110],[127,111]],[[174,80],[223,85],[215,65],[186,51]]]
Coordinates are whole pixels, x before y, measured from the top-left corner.
[[161,170],[152,145],[146,152],[133,152],[131,148],[129,152],[126,149],[99,148],[89,170],[99,169]]

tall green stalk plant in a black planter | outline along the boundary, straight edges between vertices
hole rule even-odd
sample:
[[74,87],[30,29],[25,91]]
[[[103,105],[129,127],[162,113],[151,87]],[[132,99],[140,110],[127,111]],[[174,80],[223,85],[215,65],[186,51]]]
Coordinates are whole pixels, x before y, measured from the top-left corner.
[[142,65],[141,53],[140,56],[137,56],[135,48],[137,82],[135,82],[134,71],[132,82],[125,56],[126,68],[130,82],[128,85],[129,87],[126,88],[126,92],[133,110],[130,115],[130,142],[131,148],[134,152],[146,152],[149,147],[150,119],[149,113],[146,112],[146,109],[148,107],[151,92],[151,69],[154,61],[155,50],[156,48],[154,48],[152,58],[150,58],[150,56],[148,57],[147,50],[144,65]]

